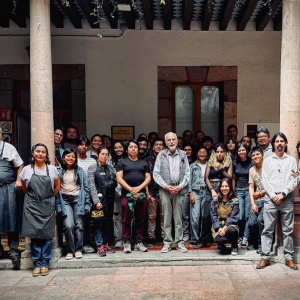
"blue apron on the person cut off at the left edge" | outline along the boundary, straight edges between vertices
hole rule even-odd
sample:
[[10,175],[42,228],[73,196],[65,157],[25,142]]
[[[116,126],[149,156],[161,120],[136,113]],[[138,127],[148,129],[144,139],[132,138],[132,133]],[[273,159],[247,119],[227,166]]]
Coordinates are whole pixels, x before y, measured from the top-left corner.
[[15,172],[12,161],[3,159],[0,150],[0,234],[20,231],[20,211],[15,189]]

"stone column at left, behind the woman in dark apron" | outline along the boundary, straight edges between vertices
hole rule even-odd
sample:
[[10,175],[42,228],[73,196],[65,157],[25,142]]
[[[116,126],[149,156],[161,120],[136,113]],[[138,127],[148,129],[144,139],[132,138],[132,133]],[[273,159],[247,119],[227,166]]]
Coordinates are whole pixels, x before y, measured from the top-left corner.
[[[50,0],[30,0],[30,103],[31,145],[47,146],[50,160],[54,162],[53,94],[50,30]],[[61,257],[57,235],[52,243],[50,267],[57,266]],[[32,268],[30,238],[25,239],[21,268]]]

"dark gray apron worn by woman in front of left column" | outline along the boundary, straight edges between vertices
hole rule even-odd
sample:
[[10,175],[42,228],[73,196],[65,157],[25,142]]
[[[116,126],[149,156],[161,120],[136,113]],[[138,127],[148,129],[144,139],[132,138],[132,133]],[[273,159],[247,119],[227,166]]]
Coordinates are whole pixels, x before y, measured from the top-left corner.
[[47,176],[33,174],[24,200],[22,235],[37,239],[55,236],[55,197],[46,165]]

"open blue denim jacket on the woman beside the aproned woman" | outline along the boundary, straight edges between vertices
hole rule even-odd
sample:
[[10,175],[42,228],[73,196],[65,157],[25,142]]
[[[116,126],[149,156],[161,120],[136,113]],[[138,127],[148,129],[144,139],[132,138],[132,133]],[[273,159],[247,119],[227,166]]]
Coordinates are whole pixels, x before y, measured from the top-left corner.
[[[61,173],[61,170],[59,170]],[[90,211],[92,202],[91,202],[91,194],[89,189],[89,184],[87,177],[80,167],[78,167],[78,176],[80,179],[80,190],[79,190],[79,199],[78,199],[78,208],[77,208],[77,214],[78,215],[85,215],[85,210]],[[59,191],[55,196],[55,208],[57,212],[62,212],[62,216],[67,215],[67,210],[65,207],[64,200],[62,198],[61,191]]]

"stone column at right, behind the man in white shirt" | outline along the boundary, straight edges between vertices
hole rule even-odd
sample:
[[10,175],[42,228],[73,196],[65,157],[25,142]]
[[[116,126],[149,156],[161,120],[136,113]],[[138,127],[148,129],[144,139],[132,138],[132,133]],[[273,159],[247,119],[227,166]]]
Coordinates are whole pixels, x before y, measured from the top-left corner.
[[[296,143],[300,139],[300,0],[282,1],[282,41],[280,77],[280,131],[288,138],[288,152],[298,161]],[[295,196],[299,195],[296,188]],[[280,226],[277,226],[282,245]],[[300,262],[300,199],[295,197],[295,260]],[[279,247],[279,260],[284,261]]]

